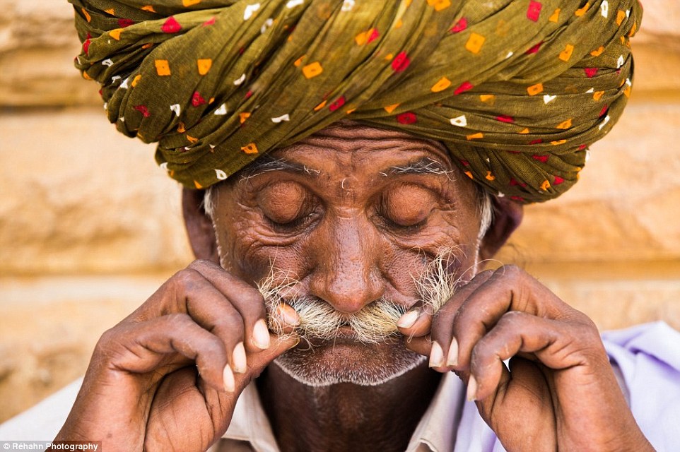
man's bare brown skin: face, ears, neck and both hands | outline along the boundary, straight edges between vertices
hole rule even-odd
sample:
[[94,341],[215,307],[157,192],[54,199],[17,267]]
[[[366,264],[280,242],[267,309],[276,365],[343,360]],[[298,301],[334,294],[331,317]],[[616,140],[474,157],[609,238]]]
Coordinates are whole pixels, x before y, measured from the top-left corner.
[[[222,184],[214,231],[202,194],[185,191],[189,238],[203,260],[102,336],[58,439],[100,439],[107,451],[205,450],[261,374],[282,451],[403,451],[440,375],[453,370],[510,451],[651,450],[592,321],[519,268],[477,273],[520,222],[520,206],[496,199],[480,241],[474,186],[438,143],[403,133],[344,124],[276,157],[307,171]],[[394,171],[423,158],[445,171]],[[412,276],[452,246],[451,270],[469,283],[433,316]],[[310,351],[294,335],[263,335],[254,283],[272,264],[298,278],[296,290],[345,314],[379,297],[411,309],[399,325],[412,339],[368,346],[344,331]],[[281,316],[291,328],[298,321],[285,309]],[[292,361],[273,363],[291,348]],[[414,352],[430,368],[406,366]],[[344,382],[300,383],[312,368]]]

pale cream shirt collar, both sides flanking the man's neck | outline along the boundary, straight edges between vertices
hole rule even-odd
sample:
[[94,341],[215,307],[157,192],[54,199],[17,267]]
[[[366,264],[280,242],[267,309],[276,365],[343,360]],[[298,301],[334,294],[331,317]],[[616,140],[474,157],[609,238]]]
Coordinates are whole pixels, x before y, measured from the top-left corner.
[[[430,406],[411,436],[406,452],[452,451],[462,416],[464,394],[462,381],[452,372],[444,374]],[[254,383],[250,383],[238,398],[231,424],[222,437],[249,441],[257,452],[279,452]],[[423,446],[427,448],[423,449]]]

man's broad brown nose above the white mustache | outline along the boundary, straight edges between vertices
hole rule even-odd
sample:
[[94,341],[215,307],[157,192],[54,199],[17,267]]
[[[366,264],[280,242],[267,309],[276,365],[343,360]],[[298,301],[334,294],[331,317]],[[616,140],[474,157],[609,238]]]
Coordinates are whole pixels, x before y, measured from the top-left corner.
[[329,223],[319,231],[310,292],[337,311],[354,314],[385,292],[377,234],[360,218],[337,218]]

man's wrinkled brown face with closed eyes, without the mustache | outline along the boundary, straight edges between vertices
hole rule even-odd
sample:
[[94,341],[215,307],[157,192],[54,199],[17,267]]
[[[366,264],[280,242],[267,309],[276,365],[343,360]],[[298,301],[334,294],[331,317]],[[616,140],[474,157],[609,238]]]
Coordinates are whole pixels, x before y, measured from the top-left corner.
[[[420,304],[414,278],[443,250],[455,249],[456,276],[474,273],[478,197],[438,143],[344,124],[272,156],[213,194],[221,263],[233,274],[257,283],[284,270],[293,292],[351,316],[380,299]],[[325,385],[382,383],[422,360],[398,338],[365,345],[341,327],[276,362]]]

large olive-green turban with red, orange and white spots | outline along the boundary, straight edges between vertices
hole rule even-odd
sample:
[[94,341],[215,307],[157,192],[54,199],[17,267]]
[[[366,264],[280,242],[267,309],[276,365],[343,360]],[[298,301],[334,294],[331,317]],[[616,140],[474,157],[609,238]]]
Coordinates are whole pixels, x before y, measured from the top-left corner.
[[342,119],[546,201],[631,93],[637,0],[69,0],[108,119],[204,188]]

